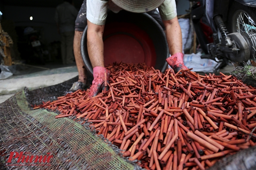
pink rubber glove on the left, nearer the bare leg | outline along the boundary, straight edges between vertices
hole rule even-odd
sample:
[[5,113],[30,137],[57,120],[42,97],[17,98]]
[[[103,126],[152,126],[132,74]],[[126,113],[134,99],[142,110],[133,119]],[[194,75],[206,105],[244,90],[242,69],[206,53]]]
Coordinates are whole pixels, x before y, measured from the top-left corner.
[[94,67],[94,80],[92,82],[90,92],[89,92],[89,97],[94,97],[96,96],[102,89],[104,90],[104,77],[105,77],[105,72],[106,72],[106,78],[107,82],[109,81],[109,75],[110,71],[107,70],[105,67]]

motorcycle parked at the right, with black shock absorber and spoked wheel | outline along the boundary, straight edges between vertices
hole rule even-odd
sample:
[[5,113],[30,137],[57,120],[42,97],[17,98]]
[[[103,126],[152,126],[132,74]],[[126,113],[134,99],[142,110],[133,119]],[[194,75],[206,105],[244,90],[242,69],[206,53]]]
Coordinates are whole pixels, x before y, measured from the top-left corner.
[[[192,1],[192,0],[190,0]],[[191,6],[191,21],[205,53],[201,58],[244,66],[256,61],[256,1],[198,0]]]

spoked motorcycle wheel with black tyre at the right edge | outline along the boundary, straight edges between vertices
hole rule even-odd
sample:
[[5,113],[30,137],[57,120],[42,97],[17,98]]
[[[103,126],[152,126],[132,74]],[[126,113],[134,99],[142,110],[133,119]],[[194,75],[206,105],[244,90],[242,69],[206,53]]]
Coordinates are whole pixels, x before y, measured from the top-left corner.
[[228,12],[228,31],[244,37],[250,49],[250,59],[256,61],[256,8],[234,1]]

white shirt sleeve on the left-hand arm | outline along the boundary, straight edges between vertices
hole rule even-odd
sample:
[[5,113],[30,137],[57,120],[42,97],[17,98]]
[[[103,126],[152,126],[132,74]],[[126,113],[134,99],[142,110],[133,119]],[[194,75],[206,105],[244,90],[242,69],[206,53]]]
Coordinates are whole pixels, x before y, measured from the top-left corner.
[[104,25],[107,17],[108,0],[87,0],[86,18],[93,24]]

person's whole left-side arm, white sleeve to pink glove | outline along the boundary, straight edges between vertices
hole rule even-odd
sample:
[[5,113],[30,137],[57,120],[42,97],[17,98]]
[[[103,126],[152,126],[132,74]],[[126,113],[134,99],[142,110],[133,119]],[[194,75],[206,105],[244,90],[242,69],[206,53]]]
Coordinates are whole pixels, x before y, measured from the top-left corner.
[[98,92],[104,90],[104,78],[108,81],[110,71],[104,67],[104,46],[103,31],[107,16],[106,0],[88,0],[86,1],[87,17],[87,51],[93,67],[94,80],[92,82],[89,97],[96,96]]

